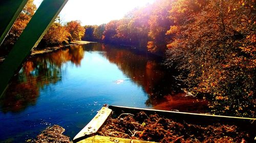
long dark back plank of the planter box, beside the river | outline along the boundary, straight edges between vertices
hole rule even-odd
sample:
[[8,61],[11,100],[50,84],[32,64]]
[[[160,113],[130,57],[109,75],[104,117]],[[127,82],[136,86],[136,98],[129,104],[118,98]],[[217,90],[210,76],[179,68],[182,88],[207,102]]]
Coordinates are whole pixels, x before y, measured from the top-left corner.
[[173,119],[180,122],[187,122],[189,124],[197,125],[212,125],[215,123],[236,125],[242,129],[250,130],[253,134],[256,133],[256,119],[255,118],[241,118],[241,117],[229,117],[229,116],[217,116],[217,115],[205,115],[199,113],[189,113],[189,112],[176,112],[176,111],[166,111],[166,110],[156,110],[156,109],[144,109],[136,107],[124,107],[124,106],[114,106],[109,105],[109,108],[117,115],[120,113],[127,112],[136,114],[140,111],[144,111],[148,115],[157,113],[165,118]]

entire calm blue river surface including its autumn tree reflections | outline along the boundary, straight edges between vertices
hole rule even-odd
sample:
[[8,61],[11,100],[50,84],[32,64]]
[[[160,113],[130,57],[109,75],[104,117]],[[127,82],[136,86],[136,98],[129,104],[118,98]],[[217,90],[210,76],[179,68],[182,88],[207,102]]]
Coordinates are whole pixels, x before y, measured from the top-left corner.
[[0,99],[0,142],[24,142],[58,124],[73,138],[103,104],[204,112],[161,59],[136,49],[90,43],[36,55]]

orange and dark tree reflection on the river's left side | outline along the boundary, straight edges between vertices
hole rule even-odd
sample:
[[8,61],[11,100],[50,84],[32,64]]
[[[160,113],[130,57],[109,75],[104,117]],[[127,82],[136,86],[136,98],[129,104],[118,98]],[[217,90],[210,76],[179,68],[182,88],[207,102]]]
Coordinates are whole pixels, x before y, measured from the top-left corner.
[[80,66],[84,56],[82,45],[35,56],[24,63],[5,95],[0,100],[3,112],[18,112],[35,105],[39,90],[61,80],[62,64]]

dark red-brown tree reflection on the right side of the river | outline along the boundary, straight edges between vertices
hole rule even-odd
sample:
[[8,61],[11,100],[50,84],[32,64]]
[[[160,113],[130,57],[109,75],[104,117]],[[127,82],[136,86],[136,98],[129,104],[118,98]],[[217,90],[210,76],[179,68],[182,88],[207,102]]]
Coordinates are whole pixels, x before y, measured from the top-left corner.
[[[127,51],[102,44],[103,55],[137,85],[142,86],[148,99],[145,102],[155,109],[204,112],[207,102],[186,96],[181,83],[174,78],[175,71],[166,70],[158,58],[152,58],[139,51]],[[98,46],[97,46],[98,47]],[[97,49],[99,50],[99,49]]]

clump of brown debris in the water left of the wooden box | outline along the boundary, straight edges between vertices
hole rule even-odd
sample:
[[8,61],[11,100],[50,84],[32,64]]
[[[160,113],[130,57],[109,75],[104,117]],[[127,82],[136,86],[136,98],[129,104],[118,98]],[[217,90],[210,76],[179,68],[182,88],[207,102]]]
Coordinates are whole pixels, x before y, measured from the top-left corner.
[[65,131],[64,128],[53,125],[52,127],[46,128],[46,130],[42,131],[39,135],[37,135],[37,139],[27,140],[27,142],[55,142],[55,143],[70,143],[70,137],[63,135],[62,133]]

